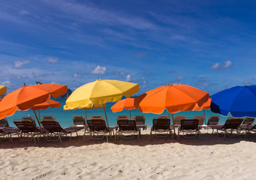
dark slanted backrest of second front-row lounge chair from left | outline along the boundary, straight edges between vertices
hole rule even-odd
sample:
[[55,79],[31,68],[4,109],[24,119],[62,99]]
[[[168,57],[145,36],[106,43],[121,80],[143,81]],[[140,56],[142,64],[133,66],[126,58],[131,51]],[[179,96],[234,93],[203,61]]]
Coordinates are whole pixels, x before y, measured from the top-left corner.
[[14,119],[14,124],[26,133],[38,131],[38,128],[31,119]]

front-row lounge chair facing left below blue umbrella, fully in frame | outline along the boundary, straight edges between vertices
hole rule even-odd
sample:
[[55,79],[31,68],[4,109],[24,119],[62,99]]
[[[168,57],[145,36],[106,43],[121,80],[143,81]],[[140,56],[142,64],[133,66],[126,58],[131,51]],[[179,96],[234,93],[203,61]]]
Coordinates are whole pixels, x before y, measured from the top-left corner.
[[[211,125],[212,133],[213,130],[217,130],[218,135],[218,130],[221,130],[224,131],[224,136],[239,136],[239,125],[242,124],[242,120],[242,118],[227,118],[225,124]],[[236,134],[234,134],[233,131],[236,131]]]

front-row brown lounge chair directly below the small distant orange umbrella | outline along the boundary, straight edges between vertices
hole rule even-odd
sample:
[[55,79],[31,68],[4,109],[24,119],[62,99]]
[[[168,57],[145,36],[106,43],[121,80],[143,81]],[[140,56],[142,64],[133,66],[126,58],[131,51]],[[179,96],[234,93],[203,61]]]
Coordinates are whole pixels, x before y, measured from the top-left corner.
[[[134,138],[135,133],[137,133],[138,139],[140,139],[140,128],[137,128],[135,120],[128,120],[126,118],[119,118],[117,121],[118,130],[116,133],[117,141],[119,136],[122,139],[132,139]],[[131,134],[131,136],[124,136],[124,134]]]

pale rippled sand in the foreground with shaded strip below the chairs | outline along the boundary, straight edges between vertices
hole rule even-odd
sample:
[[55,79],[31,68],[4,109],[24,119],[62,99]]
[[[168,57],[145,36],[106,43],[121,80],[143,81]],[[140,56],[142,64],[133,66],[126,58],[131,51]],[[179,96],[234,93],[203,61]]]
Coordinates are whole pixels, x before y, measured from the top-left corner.
[[[148,133],[149,131],[144,131]],[[0,179],[255,179],[256,136],[0,140]]]

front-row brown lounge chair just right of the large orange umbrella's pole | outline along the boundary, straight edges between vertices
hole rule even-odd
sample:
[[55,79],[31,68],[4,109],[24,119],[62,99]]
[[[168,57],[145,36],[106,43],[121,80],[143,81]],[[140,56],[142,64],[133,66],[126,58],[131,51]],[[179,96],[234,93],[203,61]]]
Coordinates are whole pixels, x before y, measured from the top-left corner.
[[199,130],[199,120],[196,118],[191,119],[182,119],[180,121],[180,127],[178,128],[178,139],[179,139],[179,133],[195,133],[194,136],[184,136],[184,137],[196,137],[199,136],[200,139],[200,130]]

